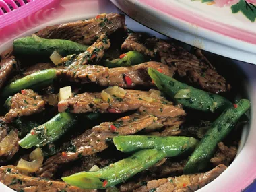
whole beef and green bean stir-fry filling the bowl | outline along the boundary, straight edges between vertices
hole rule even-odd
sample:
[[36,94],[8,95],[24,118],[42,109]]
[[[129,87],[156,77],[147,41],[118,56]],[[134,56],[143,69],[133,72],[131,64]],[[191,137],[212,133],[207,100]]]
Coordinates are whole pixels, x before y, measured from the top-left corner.
[[117,13],[15,39],[0,66],[0,181],[15,191],[197,191],[249,121],[201,50]]

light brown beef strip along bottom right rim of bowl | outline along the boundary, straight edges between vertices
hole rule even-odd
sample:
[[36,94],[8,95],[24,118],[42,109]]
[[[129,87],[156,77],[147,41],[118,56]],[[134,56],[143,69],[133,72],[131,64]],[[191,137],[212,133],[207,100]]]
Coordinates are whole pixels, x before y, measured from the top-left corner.
[[191,192],[197,191],[201,187],[207,185],[222,172],[226,170],[226,166],[220,164],[213,170],[199,174],[182,175],[180,177],[168,177],[167,179],[152,180],[147,185],[137,189],[137,192],[159,191],[159,192]]

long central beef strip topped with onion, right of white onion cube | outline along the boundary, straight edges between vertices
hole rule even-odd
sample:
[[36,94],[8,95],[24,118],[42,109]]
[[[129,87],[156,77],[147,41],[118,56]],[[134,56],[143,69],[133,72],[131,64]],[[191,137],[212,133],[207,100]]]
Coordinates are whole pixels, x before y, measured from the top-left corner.
[[[146,111],[157,117],[178,117],[185,115],[181,106],[174,106],[171,102],[160,96],[160,91],[150,90],[149,92],[139,90],[126,90],[122,100],[115,98],[111,102],[102,100],[100,93],[78,94],[73,98],[62,100],[58,104],[59,112],[67,109],[71,113],[124,113],[128,110]],[[143,100],[144,98],[144,100]],[[152,100],[145,100],[152,98]]]

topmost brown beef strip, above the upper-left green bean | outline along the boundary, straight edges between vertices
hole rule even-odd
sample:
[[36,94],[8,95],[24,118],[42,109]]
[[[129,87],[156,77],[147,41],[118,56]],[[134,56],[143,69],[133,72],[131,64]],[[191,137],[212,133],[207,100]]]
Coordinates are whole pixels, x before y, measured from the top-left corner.
[[125,15],[101,14],[90,20],[79,20],[67,24],[46,27],[36,33],[42,38],[61,38],[81,44],[92,44],[101,34],[110,35],[125,27]]

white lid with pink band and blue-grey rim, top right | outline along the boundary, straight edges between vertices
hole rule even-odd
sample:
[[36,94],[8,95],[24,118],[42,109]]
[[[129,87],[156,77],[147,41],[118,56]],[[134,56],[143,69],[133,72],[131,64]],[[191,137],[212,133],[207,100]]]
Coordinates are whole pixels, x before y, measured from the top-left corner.
[[[201,0],[111,1],[134,20],[166,36],[256,64],[256,21],[251,22],[241,11],[232,13],[232,5],[240,0],[214,0],[215,5],[201,3]],[[256,5],[255,0],[247,1]],[[228,5],[220,7],[225,2],[229,2]],[[253,9],[256,16],[253,6],[247,9]]]

